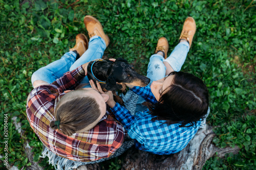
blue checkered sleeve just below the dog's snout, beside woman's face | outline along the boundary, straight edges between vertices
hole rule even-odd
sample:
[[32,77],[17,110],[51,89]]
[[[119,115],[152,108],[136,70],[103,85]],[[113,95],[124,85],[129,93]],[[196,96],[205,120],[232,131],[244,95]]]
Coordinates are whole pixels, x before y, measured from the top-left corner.
[[134,86],[133,88],[131,88],[131,90],[136,94],[142,96],[142,98],[144,98],[145,101],[153,104],[157,103],[157,100],[154,94],[152,93],[150,86],[145,86],[145,87]]

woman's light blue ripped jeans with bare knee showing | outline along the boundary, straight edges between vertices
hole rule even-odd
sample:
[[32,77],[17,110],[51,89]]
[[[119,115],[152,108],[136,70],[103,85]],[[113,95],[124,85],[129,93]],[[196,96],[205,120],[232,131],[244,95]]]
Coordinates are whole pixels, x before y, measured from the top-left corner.
[[[180,71],[182,65],[186,60],[188,52],[189,44],[188,42],[183,41],[176,45],[173,52],[166,59],[158,54],[152,55],[150,57],[150,62],[147,66],[146,77],[150,78],[150,83],[148,84],[148,86],[150,86],[153,81],[160,80],[165,77],[166,67],[163,64],[164,61],[168,62],[175,71]],[[145,100],[141,96],[139,96],[135,113],[143,111],[147,108],[146,106],[142,105],[143,102],[145,102]]]

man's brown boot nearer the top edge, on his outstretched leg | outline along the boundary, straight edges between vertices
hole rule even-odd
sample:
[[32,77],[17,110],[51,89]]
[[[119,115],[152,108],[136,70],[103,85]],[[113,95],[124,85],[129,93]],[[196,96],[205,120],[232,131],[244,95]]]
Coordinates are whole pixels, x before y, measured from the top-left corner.
[[104,33],[101,23],[98,21],[98,19],[94,18],[93,16],[87,15],[83,18],[83,22],[86,26],[90,38],[97,35],[103,38],[106,43],[106,47],[109,45],[110,39]]

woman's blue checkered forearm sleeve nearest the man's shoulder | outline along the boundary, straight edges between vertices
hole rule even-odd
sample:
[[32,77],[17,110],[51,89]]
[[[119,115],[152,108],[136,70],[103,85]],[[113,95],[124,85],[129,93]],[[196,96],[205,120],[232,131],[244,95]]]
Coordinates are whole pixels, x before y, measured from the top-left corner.
[[116,119],[121,122],[124,129],[128,130],[131,126],[131,123],[134,121],[135,117],[130,113],[129,110],[125,109],[123,106],[121,106],[119,103],[116,103],[116,105],[111,108],[113,113],[116,116]]

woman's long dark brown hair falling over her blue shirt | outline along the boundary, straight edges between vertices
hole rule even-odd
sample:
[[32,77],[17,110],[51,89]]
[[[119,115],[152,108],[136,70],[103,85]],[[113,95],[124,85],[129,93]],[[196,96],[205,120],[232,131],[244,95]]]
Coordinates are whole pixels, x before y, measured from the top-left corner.
[[[166,88],[157,104],[149,109],[155,120],[166,120],[165,124],[180,123],[180,127],[196,126],[207,114],[209,106],[208,90],[198,77],[186,72],[171,72],[172,85]],[[169,76],[168,75],[168,76]]]

